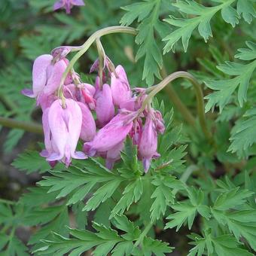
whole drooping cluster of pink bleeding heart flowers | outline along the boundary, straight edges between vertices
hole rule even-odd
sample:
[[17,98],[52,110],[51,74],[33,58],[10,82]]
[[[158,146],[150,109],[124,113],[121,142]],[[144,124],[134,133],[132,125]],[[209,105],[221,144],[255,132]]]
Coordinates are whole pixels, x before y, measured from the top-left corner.
[[[36,98],[43,111],[45,149],[41,156],[51,166],[57,161],[69,166],[72,158],[100,156],[111,169],[130,136],[147,172],[151,159],[159,157],[157,134],[163,133],[165,126],[150,103],[142,109],[146,90],[136,88],[133,93],[123,67],[115,68],[107,56],[102,69],[99,60],[90,69],[101,72],[94,85],[82,82],[73,69],[62,83],[69,65],[67,53],[69,48],[63,47],[52,55],[38,56],[32,68],[32,90],[23,90],[24,95]],[[84,142],[83,151],[76,151],[79,139]]]

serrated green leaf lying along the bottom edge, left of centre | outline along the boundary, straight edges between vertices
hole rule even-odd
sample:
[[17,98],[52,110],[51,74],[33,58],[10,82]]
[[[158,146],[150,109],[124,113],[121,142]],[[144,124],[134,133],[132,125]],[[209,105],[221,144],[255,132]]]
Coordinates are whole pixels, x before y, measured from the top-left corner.
[[[160,242],[148,237],[143,238],[142,248],[135,248],[133,241],[137,241],[141,237],[141,231],[133,222],[129,221],[124,215],[116,215],[113,224],[118,230],[124,233],[119,235],[116,230],[107,228],[102,224],[93,223],[96,233],[89,230],[76,230],[69,228],[69,234],[72,238],[60,236],[53,233],[53,239],[44,240],[45,246],[39,248],[36,253],[54,255],[62,255],[70,252],[70,255],[81,254],[90,248],[94,248],[93,255],[130,255],[144,254],[164,255],[165,252],[172,251],[166,242]],[[142,251],[140,251],[142,250]]]

